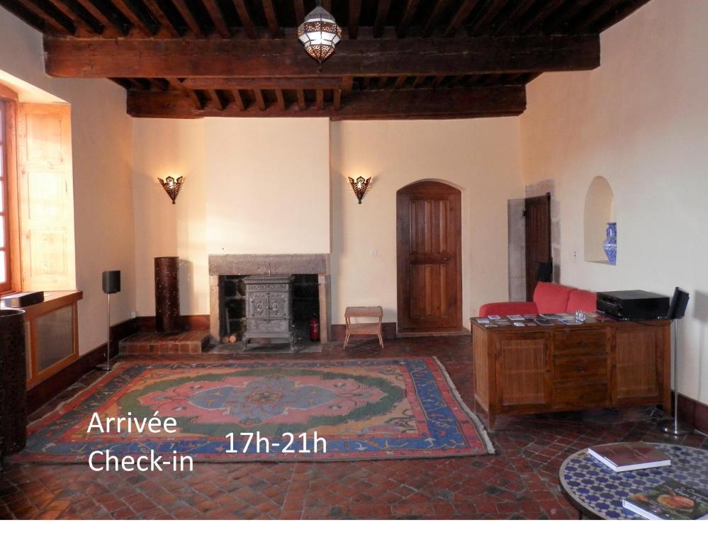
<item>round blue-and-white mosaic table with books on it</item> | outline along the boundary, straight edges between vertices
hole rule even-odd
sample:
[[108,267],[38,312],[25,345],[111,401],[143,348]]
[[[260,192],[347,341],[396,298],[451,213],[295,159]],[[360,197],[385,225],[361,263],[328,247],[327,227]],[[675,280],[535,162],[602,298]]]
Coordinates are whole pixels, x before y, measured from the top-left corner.
[[622,499],[646,491],[664,480],[708,491],[708,450],[652,443],[671,458],[668,467],[614,472],[588,450],[573,453],[561,465],[561,489],[581,514],[602,519],[644,519],[622,506]]

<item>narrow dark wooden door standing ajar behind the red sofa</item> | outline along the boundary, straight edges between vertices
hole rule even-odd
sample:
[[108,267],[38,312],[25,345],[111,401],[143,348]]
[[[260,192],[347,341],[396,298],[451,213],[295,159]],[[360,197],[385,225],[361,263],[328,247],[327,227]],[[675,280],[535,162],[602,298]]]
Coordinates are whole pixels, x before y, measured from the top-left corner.
[[539,263],[551,262],[551,193],[526,199],[526,300],[534,300]]

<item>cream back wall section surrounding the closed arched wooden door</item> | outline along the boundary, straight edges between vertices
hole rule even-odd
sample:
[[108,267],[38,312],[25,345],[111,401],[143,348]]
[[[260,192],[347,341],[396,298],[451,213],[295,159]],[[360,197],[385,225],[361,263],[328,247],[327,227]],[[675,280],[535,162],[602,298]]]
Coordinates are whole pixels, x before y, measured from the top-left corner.
[[[436,179],[462,191],[463,324],[507,300],[507,200],[523,196],[517,118],[332,123],[332,322],[381,305],[396,321],[395,193]],[[361,205],[347,176],[373,176]]]

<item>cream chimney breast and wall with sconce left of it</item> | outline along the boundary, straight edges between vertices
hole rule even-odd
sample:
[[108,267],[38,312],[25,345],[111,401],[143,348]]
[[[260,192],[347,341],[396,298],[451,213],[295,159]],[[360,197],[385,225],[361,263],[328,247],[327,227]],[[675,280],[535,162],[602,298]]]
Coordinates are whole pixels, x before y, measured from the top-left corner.
[[[137,313],[156,256],[180,257],[180,310],[209,313],[209,254],[330,252],[327,119],[133,120]],[[172,205],[157,176],[184,176]]]

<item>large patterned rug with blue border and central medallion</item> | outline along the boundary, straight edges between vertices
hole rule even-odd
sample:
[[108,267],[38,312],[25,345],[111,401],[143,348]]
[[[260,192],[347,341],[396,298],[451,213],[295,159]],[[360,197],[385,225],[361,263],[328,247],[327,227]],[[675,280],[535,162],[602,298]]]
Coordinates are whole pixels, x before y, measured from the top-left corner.
[[[94,426],[89,434],[94,412],[104,426],[108,417],[148,420],[159,412],[162,421],[174,418],[176,432],[140,433],[125,425],[116,432],[114,425],[109,432]],[[315,433],[325,438],[326,452]],[[257,438],[267,438],[268,447]],[[283,451],[288,441],[290,448]],[[119,363],[32,424],[27,448],[16,459],[84,463],[96,450],[118,457],[153,450],[165,457],[227,463],[494,452],[435,358]]]

